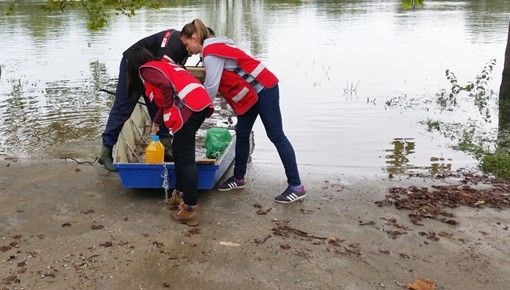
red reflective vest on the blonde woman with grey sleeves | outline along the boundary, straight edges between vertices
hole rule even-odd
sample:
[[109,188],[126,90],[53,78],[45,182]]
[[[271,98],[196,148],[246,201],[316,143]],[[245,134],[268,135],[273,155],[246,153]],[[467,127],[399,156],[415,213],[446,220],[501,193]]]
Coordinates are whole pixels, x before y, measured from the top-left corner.
[[[215,55],[229,58],[237,62],[234,71],[223,70],[218,92],[238,115],[246,113],[258,101],[258,95],[253,86],[256,83],[265,88],[272,88],[278,84],[278,78],[260,61],[254,59],[241,49],[226,43],[210,43],[203,47],[202,57]],[[251,76],[255,80],[247,82]]]

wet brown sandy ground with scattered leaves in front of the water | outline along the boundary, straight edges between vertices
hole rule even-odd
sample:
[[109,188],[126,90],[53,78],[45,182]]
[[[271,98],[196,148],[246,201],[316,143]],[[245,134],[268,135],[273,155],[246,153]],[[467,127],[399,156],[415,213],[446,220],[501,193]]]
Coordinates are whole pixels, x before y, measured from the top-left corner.
[[[384,201],[390,188],[462,178],[349,176],[302,167],[309,193],[280,205],[279,166],[247,188],[204,191],[201,224],[172,221],[159,190],[126,190],[97,163],[0,161],[0,289],[505,289],[508,208],[448,208],[456,224]],[[493,185],[471,184],[473,188]],[[391,196],[390,196],[391,197]],[[393,199],[395,200],[395,199]]]

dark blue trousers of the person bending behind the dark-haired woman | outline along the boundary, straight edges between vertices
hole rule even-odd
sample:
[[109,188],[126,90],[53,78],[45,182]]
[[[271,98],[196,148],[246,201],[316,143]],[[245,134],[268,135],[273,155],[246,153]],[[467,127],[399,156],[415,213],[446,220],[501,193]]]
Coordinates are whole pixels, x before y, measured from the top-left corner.
[[[108,115],[106,128],[102,134],[103,144],[109,148],[112,148],[113,145],[117,143],[122,126],[129,119],[131,113],[133,113],[133,110],[135,109],[136,103],[138,102],[138,96],[143,95],[151,120],[154,119],[154,116],[158,112],[156,104],[151,103],[149,99],[145,97],[143,91],[133,92],[136,94],[135,97],[128,96],[126,78],[126,60],[122,57],[119,68],[119,80],[115,91],[115,101],[113,102],[113,107]],[[161,125],[159,130],[158,135],[168,135],[168,129],[164,125]]]

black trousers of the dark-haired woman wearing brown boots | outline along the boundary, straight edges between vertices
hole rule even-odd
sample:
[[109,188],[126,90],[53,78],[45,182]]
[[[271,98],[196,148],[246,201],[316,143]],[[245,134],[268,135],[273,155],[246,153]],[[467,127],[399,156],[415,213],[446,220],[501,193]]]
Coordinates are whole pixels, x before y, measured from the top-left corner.
[[174,134],[172,149],[175,164],[175,188],[184,193],[186,205],[197,204],[198,171],[195,161],[195,137],[209,109],[194,112]]

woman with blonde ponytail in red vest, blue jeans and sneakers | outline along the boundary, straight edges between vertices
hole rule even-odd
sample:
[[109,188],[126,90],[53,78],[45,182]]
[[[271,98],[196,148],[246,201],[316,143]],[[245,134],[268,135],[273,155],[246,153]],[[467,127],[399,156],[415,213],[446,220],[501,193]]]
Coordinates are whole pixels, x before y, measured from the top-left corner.
[[184,25],[181,41],[191,54],[202,54],[206,70],[204,86],[209,96],[214,98],[219,92],[238,115],[234,175],[217,189],[245,187],[249,137],[260,116],[267,136],[278,150],[289,184],[275,201],[291,203],[304,199],[306,191],[299,177],[296,155],[283,132],[276,76],[259,60],[234,46],[230,39],[211,35],[200,19]]

